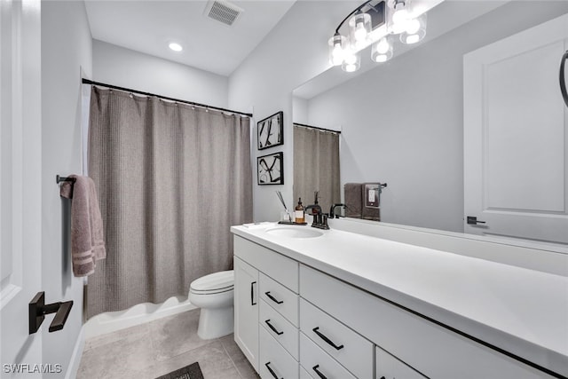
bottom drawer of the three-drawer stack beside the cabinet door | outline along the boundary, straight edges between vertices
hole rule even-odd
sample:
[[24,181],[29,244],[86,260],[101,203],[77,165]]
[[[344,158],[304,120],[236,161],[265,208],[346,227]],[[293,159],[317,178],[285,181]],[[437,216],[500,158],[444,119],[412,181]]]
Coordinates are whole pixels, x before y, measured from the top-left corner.
[[259,330],[260,361],[258,374],[263,379],[296,379],[298,362],[264,328]]

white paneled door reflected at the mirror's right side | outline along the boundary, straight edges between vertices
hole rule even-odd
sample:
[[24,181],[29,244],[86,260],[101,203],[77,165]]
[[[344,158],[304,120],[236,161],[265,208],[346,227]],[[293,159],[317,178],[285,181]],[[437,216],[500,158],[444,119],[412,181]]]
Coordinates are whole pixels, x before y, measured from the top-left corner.
[[465,233],[568,243],[567,49],[564,15],[464,57]]

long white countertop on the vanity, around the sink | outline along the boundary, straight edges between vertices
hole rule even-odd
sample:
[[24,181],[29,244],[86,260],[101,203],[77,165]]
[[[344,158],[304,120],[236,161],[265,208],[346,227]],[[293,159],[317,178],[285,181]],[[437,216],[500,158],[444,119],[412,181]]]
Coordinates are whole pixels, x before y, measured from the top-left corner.
[[568,376],[568,278],[340,230],[265,232],[273,226],[231,232]]

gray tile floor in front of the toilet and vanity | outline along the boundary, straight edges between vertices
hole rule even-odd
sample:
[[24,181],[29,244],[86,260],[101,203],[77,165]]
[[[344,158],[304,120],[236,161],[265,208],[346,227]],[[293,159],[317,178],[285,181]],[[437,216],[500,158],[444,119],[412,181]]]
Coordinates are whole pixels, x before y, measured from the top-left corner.
[[233,335],[197,336],[199,309],[85,342],[77,379],[154,379],[199,362],[204,379],[258,379]]

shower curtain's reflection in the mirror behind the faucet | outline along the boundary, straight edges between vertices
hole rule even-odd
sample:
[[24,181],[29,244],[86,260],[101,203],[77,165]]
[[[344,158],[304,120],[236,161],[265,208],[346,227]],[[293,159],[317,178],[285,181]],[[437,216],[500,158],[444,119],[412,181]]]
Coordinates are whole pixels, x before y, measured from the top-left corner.
[[304,206],[313,203],[319,191],[324,213],[341,202],[339,134],[294,125],[294,206],[299,197]]

